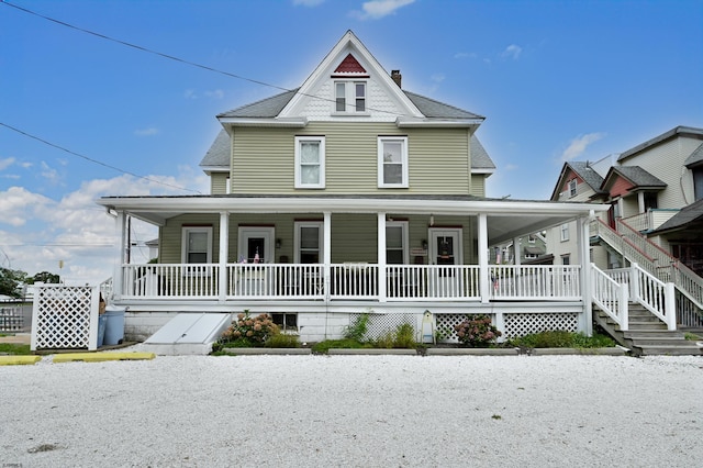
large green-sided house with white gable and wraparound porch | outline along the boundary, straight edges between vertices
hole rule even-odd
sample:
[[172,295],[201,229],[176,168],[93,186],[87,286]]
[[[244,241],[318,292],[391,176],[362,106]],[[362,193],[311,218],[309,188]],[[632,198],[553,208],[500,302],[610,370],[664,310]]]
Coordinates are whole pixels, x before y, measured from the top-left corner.
[[180,312],[243,310],[308,342],[365,312],[380,332],[420,331],[425,311],[435,330],[484,313],[507,337],[591,332],[588,263],[495,266],[489,252],[574,221],[588,253],[589,219],[607,207],[487,199],[483,118],[404,90],[353,32],[300,88],[217,119],[201,163],[211,194],[98,201],[123,246],[127,216],[159,227],[158,264],[123,253],[113,278],[129,337]]

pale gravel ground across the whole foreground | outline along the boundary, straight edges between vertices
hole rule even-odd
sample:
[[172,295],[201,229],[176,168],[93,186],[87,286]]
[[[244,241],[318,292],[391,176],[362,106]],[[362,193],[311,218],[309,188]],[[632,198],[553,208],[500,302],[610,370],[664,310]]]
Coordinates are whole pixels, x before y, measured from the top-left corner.
[[703,465],[700,357],[45,357],[0,388],[2,467]]

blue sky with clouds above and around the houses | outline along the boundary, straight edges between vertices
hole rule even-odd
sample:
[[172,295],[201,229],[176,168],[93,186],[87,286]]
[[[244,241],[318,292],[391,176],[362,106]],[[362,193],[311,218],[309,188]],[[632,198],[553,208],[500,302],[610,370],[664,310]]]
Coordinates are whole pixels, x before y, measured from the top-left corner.
[[703,127],[701,0],[0,0],[0,265],[110,277],[94,200],[207,193],[215,115],[300,86],[347,30],[404,89],[487,118],[489,197],[548,199],[565,160]]

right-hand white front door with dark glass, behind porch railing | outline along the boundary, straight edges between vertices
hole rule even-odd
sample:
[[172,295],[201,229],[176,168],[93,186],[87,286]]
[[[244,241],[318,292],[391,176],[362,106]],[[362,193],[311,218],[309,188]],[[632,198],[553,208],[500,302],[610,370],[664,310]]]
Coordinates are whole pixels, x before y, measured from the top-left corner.
[[429,274],[429,293],[434,297],[464,296],[464,283],[460,270],[462,265],[461,229],[429,230],[429,264],[435,265]]

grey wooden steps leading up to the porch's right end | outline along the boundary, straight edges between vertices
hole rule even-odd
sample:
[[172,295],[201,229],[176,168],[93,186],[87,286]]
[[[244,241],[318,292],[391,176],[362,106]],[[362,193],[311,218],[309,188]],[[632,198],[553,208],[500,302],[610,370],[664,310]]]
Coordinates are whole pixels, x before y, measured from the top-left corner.
[[593,304],[593,321],[607,332],[621,346],[635,356],[669,355],[701,356],[703,347],[684,338],[680,331],[667,330],[667,325],[636,302],[628,303],[629,330],[622,331],[610,316]]

